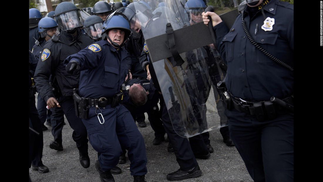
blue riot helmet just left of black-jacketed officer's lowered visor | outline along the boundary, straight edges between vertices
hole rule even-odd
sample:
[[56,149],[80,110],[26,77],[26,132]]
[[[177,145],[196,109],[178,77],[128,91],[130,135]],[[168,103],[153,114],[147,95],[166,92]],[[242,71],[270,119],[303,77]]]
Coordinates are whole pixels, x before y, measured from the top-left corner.
[[40,37],[45,38],[46,36],[48,36],[49,38],[47,39],[50,39],[54,34],[59,34],[59,28],[53,18],[44,17],[38,23],[38,32],[40,34]]

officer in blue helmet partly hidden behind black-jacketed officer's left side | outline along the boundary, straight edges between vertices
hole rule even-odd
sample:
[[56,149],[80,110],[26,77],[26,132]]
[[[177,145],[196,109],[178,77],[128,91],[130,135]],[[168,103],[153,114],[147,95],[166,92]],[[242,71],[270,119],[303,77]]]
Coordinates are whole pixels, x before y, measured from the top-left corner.
[[[50,17],[44,17],[42,18],[38,23],[38,32],[39,32],[39,38],[36,41],[36,44],[33,47],[33,50],[31,51],[33,55],[39,59],[41,57],[41,53],[43,52],[43,47],[47,40],[50,40],[53,35],[58,35],[58,25],[56,21],[53,18]],[[49,78],[51,80],[51,77]],[[51,80],[52,82],[52,80]],[[39,113],[39,118],[42,123],[42,129],[47,130],[48,128],[45,126],[45,122],[47,122],[48,125],[51,126],[51,119],[62,119],[64,122],[64,114],[61,115],[61,117],[55,117],[51,118],[52,111],[48,110],[46,108],[46,101],[41,98],[40,94],[37,95],[37,110]],[[53,109],[52,109],[53,110]]]

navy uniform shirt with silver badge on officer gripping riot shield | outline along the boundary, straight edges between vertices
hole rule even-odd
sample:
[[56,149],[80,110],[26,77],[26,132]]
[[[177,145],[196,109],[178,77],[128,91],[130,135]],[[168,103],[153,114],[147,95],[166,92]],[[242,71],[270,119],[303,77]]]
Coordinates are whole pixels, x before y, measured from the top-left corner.
[[[293,67],[294,6],[271,0],[263,8],[265,17],[258,11],[252,19],[247,13],[248,8],[245,10],[244,19],[251,37],[271,55]],[[271,30],[265,31],[262,26],[266,26],[267,17],[273,18],[274,24],[271,24]],[[268,101],[272,96],[283,99],[293,94],[294,72],[274,62],[250,43],[242,28],[242,14],[237,16],[229,33],[224,22],[216,25],[214,30],[219,52],[228,65],[226,87],[235,97]]]

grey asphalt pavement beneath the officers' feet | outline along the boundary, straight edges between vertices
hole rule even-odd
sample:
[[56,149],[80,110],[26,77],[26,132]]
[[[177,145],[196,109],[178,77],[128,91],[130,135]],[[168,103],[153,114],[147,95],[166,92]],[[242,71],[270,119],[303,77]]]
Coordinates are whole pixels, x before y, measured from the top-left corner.
[[[36,93],[37,98],[37,93]],[[56,151],[49,148],[49,143],[53,141],[51,126],[44,134],[43,164],[49,168],[48,173],[41,174],[29,168],[29,175],[33,182],[100,182],[99,173],[94,164],[98,159],[97,152],[89,143],[90,167],[83,168],[79,163],[78,149],[72,139],[73,130],[65,118],[63,135],[63,151]],[[146,145],[147,153],[147,182],[169,182],[166,179],[168,173],[179,169],[174,153],[167,152],[167,134],[166,141],[161,145],[152,145],[154,132],[151,129],[146,114],[146,124],[144,128],[139,128]],[[46,124],[45,124],[46,125]],[[241,159],[235,147],[226,146],[219,129],[210,131],[211,145],[214,152],[209,159],[197,159],[202,170],[202,175],[196,178],[184,179],[181,182],[253,182],[248,174],[245,164]],[[123,166],[130,165],[127,156],[126,164],[119,164],[122,173],[113,175],[116,182],[133,182],[130,170]]]

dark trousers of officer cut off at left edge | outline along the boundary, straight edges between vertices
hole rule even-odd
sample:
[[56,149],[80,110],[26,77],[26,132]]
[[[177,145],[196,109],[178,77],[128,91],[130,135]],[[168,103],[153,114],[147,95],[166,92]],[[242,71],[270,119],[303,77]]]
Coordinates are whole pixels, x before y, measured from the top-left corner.
[[43,166],[41,158],[43,157],[43,130],[36,108],[35,95],[29,98],[29,127],[39,133],[37,135],[29,130],[29,168],[32,165]]

